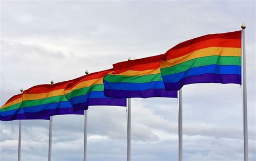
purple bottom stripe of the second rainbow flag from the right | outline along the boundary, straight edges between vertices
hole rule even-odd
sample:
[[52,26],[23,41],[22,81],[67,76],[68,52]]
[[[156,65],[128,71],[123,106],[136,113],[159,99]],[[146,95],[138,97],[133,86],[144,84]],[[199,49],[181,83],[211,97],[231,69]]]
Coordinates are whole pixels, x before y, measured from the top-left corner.
[[112,90],[104,89],[106,97],[120,98],[150,98],[150,97],[171,97],[177,98],[177,91],[166,92],[165,89],[149,89],[149,90]]

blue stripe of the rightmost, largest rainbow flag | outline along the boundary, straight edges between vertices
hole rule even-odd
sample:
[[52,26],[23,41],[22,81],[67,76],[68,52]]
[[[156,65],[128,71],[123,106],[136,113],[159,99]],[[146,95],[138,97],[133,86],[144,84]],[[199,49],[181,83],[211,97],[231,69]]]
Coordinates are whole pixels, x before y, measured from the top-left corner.
[[196,76],[201,74],[237,74],[241,75],[241,66],[236,65],[208,65],[190,68],[185,72],[162,75],[164,82],[175,83],[183,80],[189,76]]

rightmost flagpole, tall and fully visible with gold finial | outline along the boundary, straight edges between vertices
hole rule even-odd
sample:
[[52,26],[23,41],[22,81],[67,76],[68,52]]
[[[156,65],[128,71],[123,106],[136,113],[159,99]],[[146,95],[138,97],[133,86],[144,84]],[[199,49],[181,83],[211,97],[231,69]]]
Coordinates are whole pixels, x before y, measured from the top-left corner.
[[244,112],[244,160],[248,161],[247,86],[245,55],[245,24],[242,24],[242,104]]

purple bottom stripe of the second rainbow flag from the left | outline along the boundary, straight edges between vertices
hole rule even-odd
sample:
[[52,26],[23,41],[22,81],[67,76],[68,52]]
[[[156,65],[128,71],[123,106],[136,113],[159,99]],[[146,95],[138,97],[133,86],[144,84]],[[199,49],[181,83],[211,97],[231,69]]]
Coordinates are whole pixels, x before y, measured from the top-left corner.
[[25,116],[34,119],[38,117],[44,117],[44,116],[54,116],[54,115],[83,115],[84,111],[73,111],[73,108],[57,108],[57,109],[49,109],[49,110],[42,110],[38,111],[36,113],[25,113]]

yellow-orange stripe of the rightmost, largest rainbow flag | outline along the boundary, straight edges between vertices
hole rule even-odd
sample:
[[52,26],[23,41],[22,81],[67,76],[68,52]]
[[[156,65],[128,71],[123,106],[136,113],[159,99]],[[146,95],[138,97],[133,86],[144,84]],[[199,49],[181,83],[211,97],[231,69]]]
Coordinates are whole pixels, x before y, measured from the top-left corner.
[[233,56],[233,57],[241,57],[241,48],[235,47],[207,47],[202,48],[200,50],[193,51],[189,54],[186,54],[179,58],[169,59],[167,61],[162,61],[160,66],[161,68],[171,67],[182,62],[201,58],[201,57],[208,57],[208,56]]

